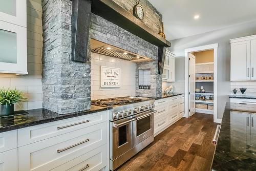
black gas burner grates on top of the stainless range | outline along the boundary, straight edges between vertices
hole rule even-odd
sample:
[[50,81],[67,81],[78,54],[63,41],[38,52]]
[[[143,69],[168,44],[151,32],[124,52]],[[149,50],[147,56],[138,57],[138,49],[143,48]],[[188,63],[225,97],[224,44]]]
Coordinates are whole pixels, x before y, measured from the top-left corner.
[[114,105],[130,104],[130,103],[135,103],[139,101],[142,101],[142,98],[117,97],[117,98],[92,100],[92,104],[114,106]]

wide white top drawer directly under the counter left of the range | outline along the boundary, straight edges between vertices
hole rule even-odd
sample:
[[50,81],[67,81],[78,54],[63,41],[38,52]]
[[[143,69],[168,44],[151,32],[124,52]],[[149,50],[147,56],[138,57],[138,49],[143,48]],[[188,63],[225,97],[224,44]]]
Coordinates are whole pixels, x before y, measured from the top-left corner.
[[18,146],[24,146],[106,121],[106,111],[25,127],[18,130]]

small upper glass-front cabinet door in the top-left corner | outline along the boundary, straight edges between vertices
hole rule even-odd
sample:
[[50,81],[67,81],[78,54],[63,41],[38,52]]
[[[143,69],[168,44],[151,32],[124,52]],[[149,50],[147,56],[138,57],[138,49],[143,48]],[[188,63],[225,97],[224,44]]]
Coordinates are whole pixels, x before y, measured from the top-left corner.
[[0,20],[27,27],[27,0],[0,0]]

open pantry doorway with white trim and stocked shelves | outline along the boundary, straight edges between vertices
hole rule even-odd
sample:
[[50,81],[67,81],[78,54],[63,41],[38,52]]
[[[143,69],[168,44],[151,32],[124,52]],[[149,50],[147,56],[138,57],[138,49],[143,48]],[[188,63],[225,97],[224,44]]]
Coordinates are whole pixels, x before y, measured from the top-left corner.
[[217,63],[218,44],[185,49],[185,117],[195,112],[212,114],[214,122],[220,123],[217,118]]

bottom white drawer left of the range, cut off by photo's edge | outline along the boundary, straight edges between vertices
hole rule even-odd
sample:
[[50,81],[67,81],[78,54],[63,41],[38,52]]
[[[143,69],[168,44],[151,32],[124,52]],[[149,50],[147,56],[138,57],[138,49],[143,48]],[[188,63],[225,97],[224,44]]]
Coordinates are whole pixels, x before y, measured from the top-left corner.
[[106,145],[83,154],[65,164],[52,169],[52,171],[73,170],[100,170],[106,166]]

